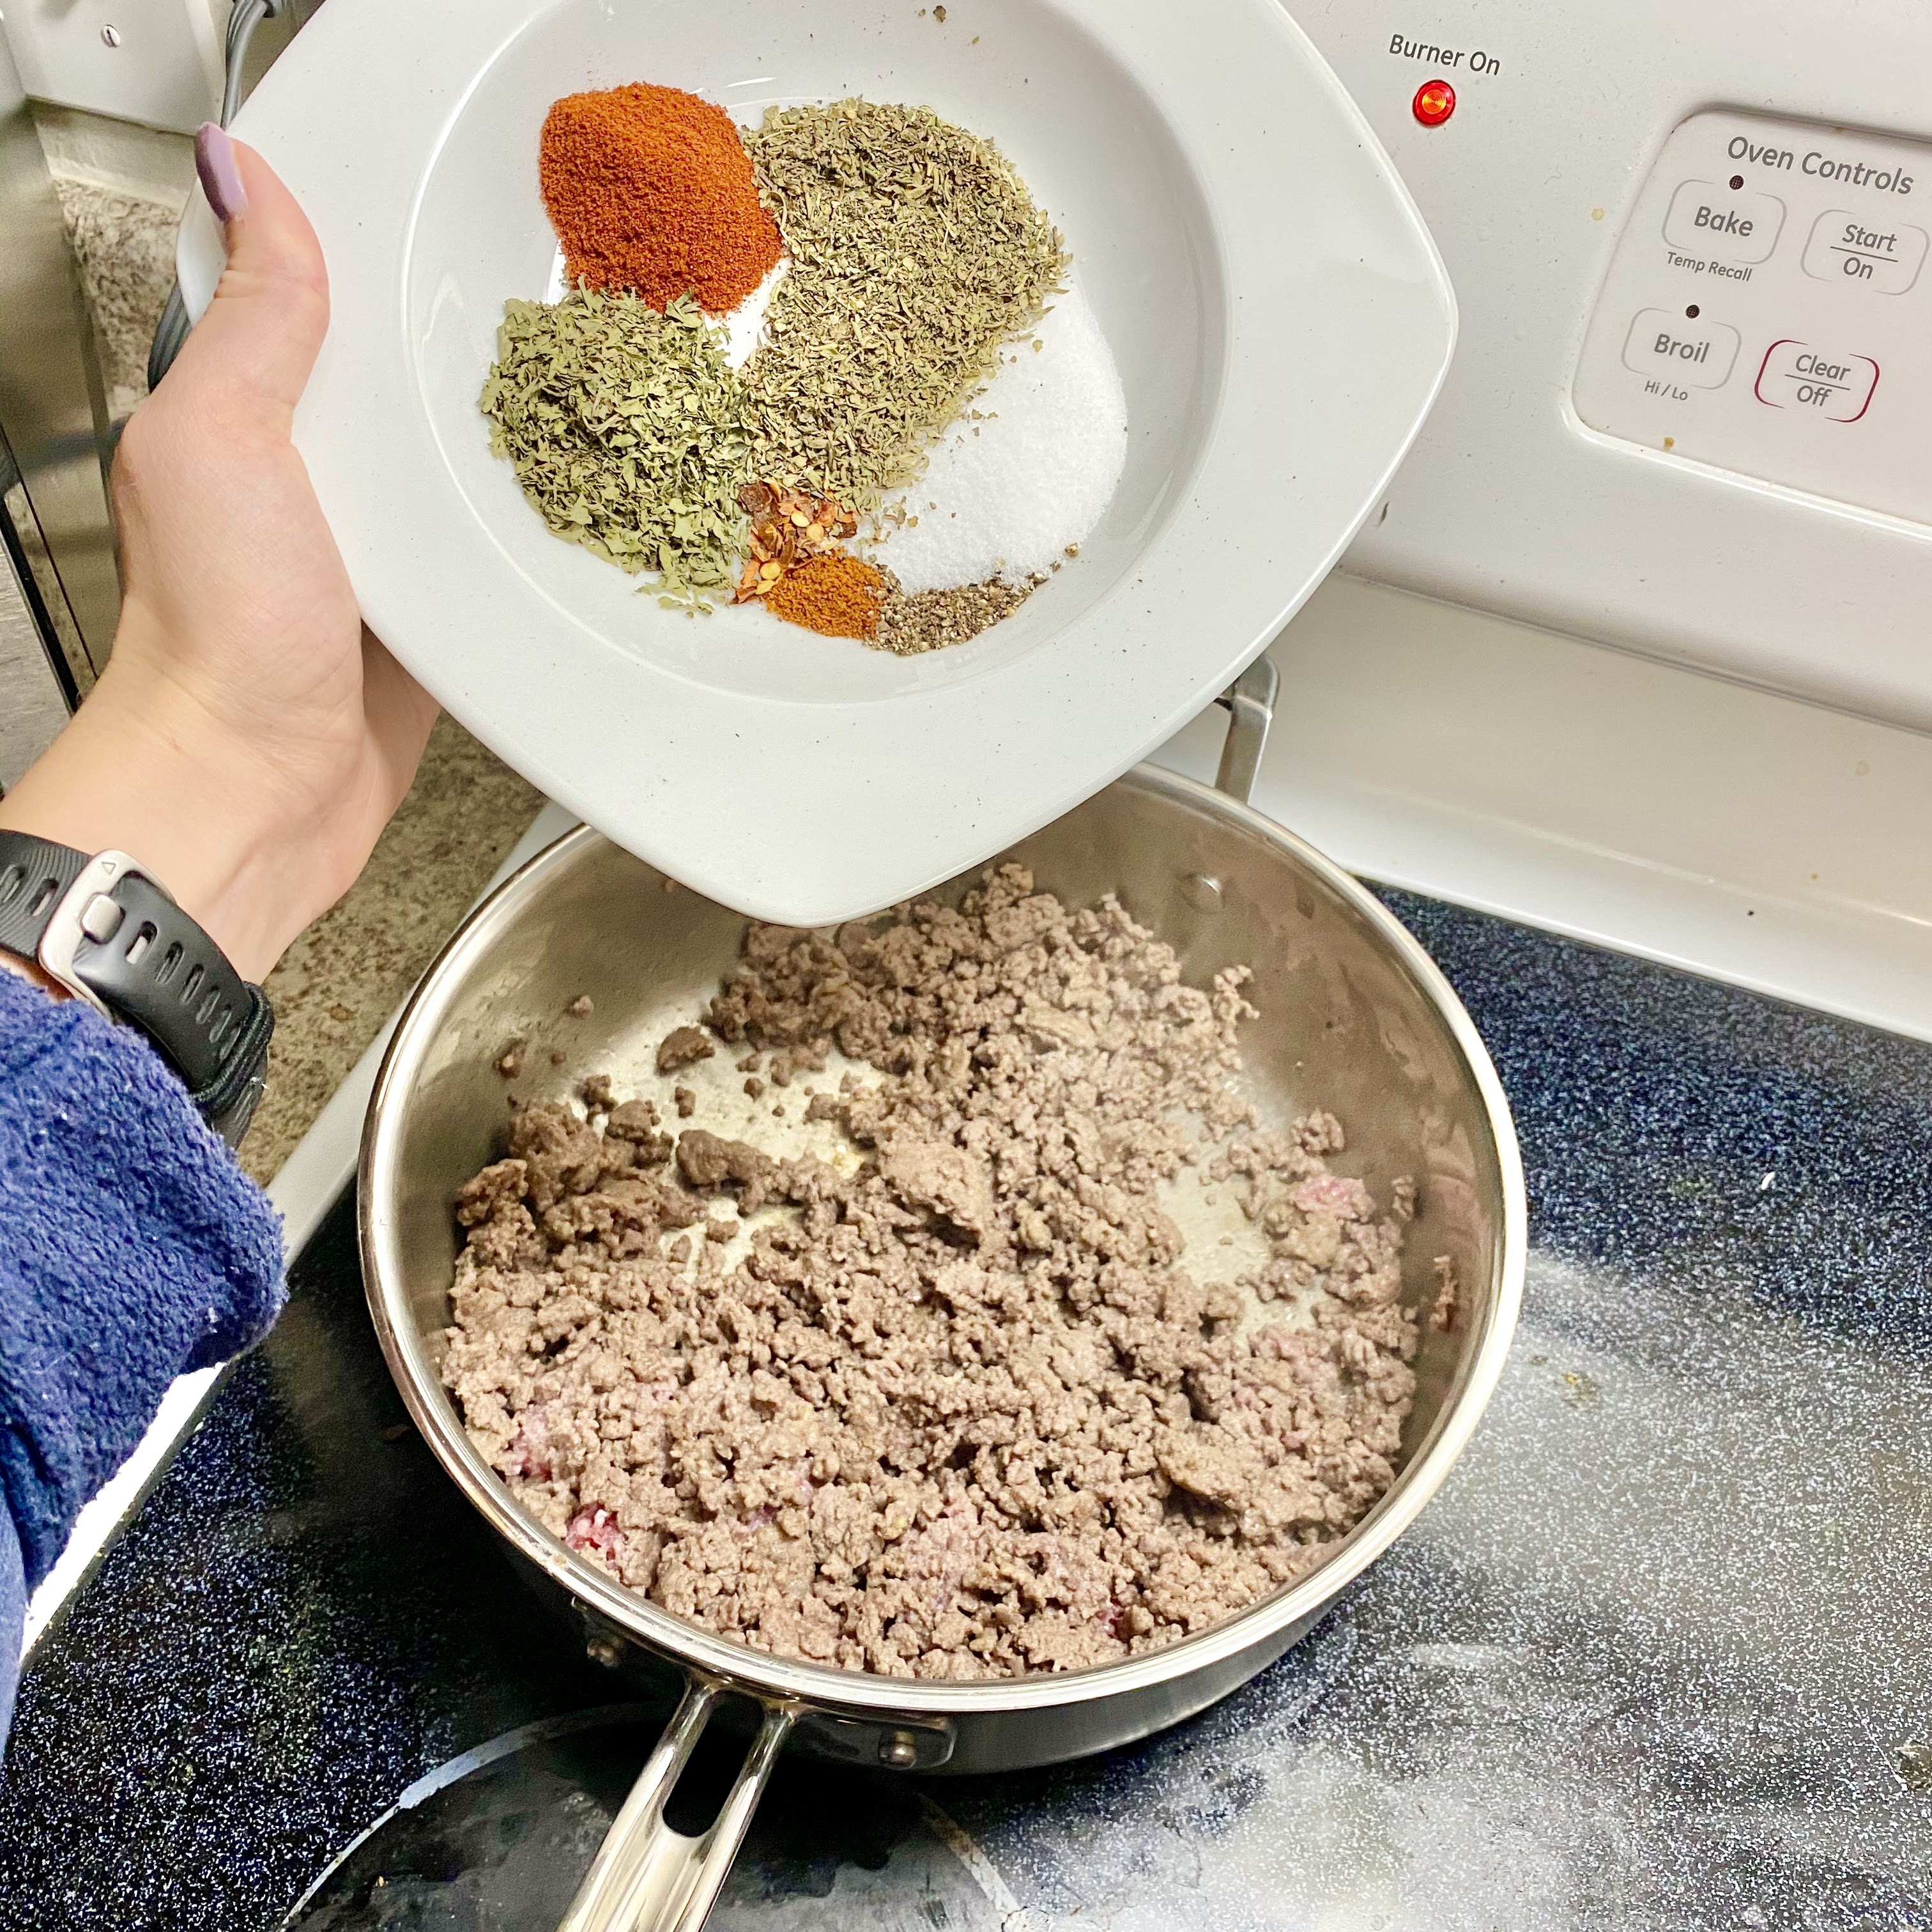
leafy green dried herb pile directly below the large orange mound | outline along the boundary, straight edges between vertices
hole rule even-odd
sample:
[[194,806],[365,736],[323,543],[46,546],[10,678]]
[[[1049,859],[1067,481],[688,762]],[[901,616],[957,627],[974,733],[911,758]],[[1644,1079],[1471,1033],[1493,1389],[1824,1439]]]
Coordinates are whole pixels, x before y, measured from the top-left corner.
[[724,334],[678,298],[506,301],[479,398],[543,520],[678,601],[732,582],[752,419]]

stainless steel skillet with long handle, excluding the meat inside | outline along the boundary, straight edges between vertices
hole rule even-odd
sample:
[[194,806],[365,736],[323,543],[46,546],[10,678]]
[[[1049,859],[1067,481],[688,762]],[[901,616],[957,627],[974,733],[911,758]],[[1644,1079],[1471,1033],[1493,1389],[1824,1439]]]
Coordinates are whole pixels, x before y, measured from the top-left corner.
[[[500,1153],[508,1037],[529,1041],[543,1092],[636,1059],[699,1010],[744,922],[576,831],[508,879],[417,987],[377,1080],[361,1153],[361,1254],[383,1350],[431,1449],[493,1528],[566,1600],[603,1662],[682,1671],[684,1702],[612,1824],[564,1932],[696,1932],[786,1743],[904,1772],[1018,1770],[1146,1737],[1227,1696],[1308,1633],[1435,1493],[1495,1387],[1526,1248],[1509,1107],[1461,1001],[1408,933],[1337,866],[1242,798],[1267,696],[1231,694],[1221,782],[1142,767],[1009,856],[1068,902],[1119,893],[1182,954],[1190,980],[1244,960],[1262,1018],[1244,1032],[1250,1086],[1287,1121],[1321,1105],[1349,1126],[1345,1171],[1378,1198],[1418,1180],[1405,1302],[1434,1302],[1434,1256],[1461,1283],[1455,1323],[1424,1323],[1418,1393],[1389,1493],[1310,1577],[1217,1629],[1101,1669],[1005,1683],[923,1683],[792,1663],[686,1625],[543,1530],[477,1455],[439,1376],[456,1254],[456,1188]],[[933,896],[964,891],[972,877]],[[589,1018],[564,1024],[587,993]],[[549,1055],[562,1059],[553,1066]],[[719,1698],[763,1712],[713,1826],[665,1824]]]

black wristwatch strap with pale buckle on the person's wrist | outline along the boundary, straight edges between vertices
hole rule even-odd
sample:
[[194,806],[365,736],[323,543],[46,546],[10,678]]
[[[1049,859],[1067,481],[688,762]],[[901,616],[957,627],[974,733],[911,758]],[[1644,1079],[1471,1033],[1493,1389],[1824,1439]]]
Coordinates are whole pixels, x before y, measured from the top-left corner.
[[126,852],[0,831],[0,951],[137,1026],[201,1119],[242,1142],[269,1074],[269,995]]

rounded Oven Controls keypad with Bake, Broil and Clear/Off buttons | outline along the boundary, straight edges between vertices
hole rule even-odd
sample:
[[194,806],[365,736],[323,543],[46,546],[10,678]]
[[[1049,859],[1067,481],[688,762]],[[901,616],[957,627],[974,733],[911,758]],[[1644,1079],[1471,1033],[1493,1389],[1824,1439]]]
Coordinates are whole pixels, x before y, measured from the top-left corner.
[[1932,524],[1932,147],[1692,114],[1577,363],[1609,437]]

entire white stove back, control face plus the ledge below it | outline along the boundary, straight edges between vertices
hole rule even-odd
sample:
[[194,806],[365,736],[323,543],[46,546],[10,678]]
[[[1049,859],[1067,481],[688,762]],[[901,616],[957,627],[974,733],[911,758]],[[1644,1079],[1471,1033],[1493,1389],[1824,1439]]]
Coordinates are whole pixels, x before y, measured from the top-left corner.
[[1461,338],[1275,645],[1256,802],[1374,877],[1932,1037],[1932,17],[1293,12]]

